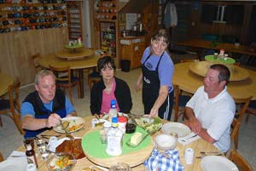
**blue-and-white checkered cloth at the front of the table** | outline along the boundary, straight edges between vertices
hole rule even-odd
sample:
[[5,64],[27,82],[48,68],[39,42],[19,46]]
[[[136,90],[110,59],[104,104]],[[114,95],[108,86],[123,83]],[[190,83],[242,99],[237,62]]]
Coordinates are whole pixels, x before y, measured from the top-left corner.
[[143,164],[150,171],[183,171],[184,169],[179,161],[179,154],[176,149],[168,150],[163,153],[154,150]]

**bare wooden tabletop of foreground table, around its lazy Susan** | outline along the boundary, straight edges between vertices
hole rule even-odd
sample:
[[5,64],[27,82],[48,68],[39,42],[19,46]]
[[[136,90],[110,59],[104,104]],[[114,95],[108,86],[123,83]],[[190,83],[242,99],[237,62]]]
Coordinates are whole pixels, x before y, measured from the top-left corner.
[[[73,134],[73,136],[75,137],[83,137],[84,134],[86,134],[88,131],[91,130],[90,128],[90,121],[92,118],[95,118],[93,116],[90,117],[84,117],[84,121],[85,121],[85,126],[84,128],[80,129],[79,132],[76,132]],[[163,123],[166,123],[166,120],[162,121]],[[50,135],[54,135],[54,134],[58,134],[55,133],[54,130],[48,130],[45,131],[43,134],[50,134]],[[152,135],[152,139],[154,140],[154,137],[158,134],[162,134],[161,131],[157,132],[156,134]],[[39,135],[38,135],[39,136]],[[40,136],[39,136],[40,137]],[[62,134],[62,137],[64,137],[64,134]],[[61,138],[61,137],[59,137]],[[22,142],[20,142],[21,144]],[[189,145],[181,145],[181,144],[177,144],[177,150],[179,151],[179,155],[180,155],[180,161],[182,162],[183,166],[184,166],[184,171],[201,171],[201,158],[194,158],[194,162],[191,165],[186,165],[184,162],[184,151],[186,148],[193,148],[195,151],[195,157],[199,157],[201,156],[200,152],[201,151],[218,151],[218,149],[208,143],[205,140],[195,140],[194,142],[190,143]],[[18,148],[18,151],[25,151],[25,147],[24,145],[20,145],[20,147]],[[37,151],[37,150],[36,150]],[[135,153],[133,155],[133,158],[136,159],[137,155],[143,155],[141,153]],[[115,164],[116,161],[113,162],[113,164]],[[82,159],[79,159],[73,169],[73,171],[80,171],[82,170],[82,168],[85,167],[90,167],[90,166],[95,166],[96,164],[93,162],[90,162],[90,160],[87,157],[84,157]],[[40,155],[38,155],[38,171],[45,171],[47,170],[47,166],[46,166],[46,161],[43,161],[40,157]],[[143,164],[139,164],[138,166],[132,168],[133,171],[143,171],[145,170],[145,167],[143,166]]]

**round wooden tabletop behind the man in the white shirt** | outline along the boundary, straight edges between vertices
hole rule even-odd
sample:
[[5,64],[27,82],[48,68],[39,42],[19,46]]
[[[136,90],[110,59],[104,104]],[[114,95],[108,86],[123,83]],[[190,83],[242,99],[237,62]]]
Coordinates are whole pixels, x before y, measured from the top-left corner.
[[[204,77],[189,69],[193,62],[177,63],[174,66],[172,83],[179,86],[185,92],[195,94],[197,88],[203,85]],[[238,66],[236,66],[238,67]],[[230,81],[227,85],[229,93],[234,99],[243,99],[253,95],[252,100],[256,100],[256,71],[242,68],[247,71],[246,79]]]

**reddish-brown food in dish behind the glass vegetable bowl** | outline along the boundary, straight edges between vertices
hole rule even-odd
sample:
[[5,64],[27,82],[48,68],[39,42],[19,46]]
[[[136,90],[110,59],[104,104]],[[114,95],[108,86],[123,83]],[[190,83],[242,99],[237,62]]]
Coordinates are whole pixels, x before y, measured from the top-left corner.
[[55,152],[69,152],[75,159],[85,157],[82,149],[82,139],[65,140],[56,147]]

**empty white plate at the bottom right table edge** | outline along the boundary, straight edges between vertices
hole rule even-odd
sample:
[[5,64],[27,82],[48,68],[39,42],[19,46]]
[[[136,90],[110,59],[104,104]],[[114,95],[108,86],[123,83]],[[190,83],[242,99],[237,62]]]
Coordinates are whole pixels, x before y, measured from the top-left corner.
[[236,164],[225,157],[208,156],[201,160],[203,171],[238,171]]

